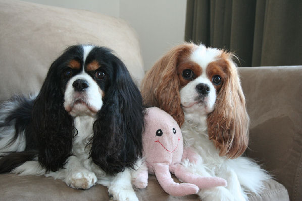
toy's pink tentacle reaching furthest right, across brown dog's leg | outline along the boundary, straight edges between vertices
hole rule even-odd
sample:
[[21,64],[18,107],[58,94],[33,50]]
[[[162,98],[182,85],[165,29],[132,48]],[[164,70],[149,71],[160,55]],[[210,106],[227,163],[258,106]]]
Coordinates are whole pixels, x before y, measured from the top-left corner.
[[227,181],[220,177],[202,177],[188,173],[181,164],[170,166],[170,172],[183,182],[193,183],[199,188],[212,188],[216,186],[227,186]]

